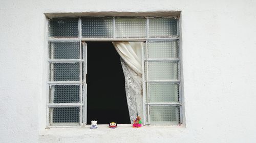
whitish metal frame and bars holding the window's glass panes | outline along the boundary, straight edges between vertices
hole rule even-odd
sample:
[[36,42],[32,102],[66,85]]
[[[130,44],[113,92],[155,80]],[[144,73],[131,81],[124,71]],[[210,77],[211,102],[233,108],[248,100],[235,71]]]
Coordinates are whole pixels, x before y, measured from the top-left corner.
[[[54,38],[54,37],[49,37],[48,36],[48,27],[49,27],[49,21],[47,22],[47,127],[77,127],[77,126],[65,126],[65,124],[62,124],[61,126],[50,126],[50,116],[49,116],[49,107],[80,107],[80,126],[84,126],[87,123],[87,84],[86,84],[86,74],[87,74],[87,41],[129,41],[129,42],[135,42],[135,41],[141,41],[144,42],[144,47],[142,48],[142,89],[143,89],[143,125],[151,125],[150,124],[150,115],[149,110],[146,112],[146,107],[149,109],[150,105],[161,105],[161,106],[179,106],[180,108],[180,124],[183,123],[183,116],[182,116],[182,99],[183,99],[183,94],[182,94],[182,87],[181,87],[181,53],[180,53],[180,47],[181,47],[181,22],[180,18],[177,16],[161,16],[159,18],[177,18],[177,37],[169,37],[169,38],[150,38],[149,36],[149,19],[150,18],[155,18],[154,16],[148,17],[148,16],[140,16],[140,17],[135,17],[135,16],[121,16],[122,18],[145,18],[146,19],[146,38],[117,38],[115,35],[115,18],[114,16],[87,16],[90,18],[112,18],[113,20],[113,37],[112,38],[83,38],[82,37],[82,20],[81,18],[83,17],[78,17],[78,31],[79,35],[77,38]],[[51,19],[51,17],[48,17]],[[52,18],[63,18],[63,17],[52,17]],[[74,18],[74,17],[67,17],[67,18]],[[118,17],[119,18],[119,17]],[[148,41],[159,41],[159,40],[177,40],[178,41],[178,59],[148,59],[147,57],[147,46],[148,46]],[[49,42],[80,42],[80,59],[73,59],[73,60],[49,60],[49,47],[48,43]],[[82,46],[83,46],[83,55],[86,57],[85,59],[82,59]],[[144,57],[144,48],[146,48],[146,57]],[[179,80],[168,80],[167,82],[172,82],[172,83],[179,83],[179,103],[177,102],[169,102],[169,103],[149,103],[148,98],[146,99],[146,93],[148,93],[148,84],[146,82],[162,82],[160,80],[156,81],[148,81],[145,78],[145,67],[144,67],[144,62],[146,63],[146,66],[148,65],[148,61],[177,61],[179,65]],[[74,62],[79,62],[80,63],[80,75],[82,74],[82,63],[84,63],[84,81],[82,82],[82,76],[80,76],[80,81],[49,81],[49,63],[74,63]],[[146,68],[147,69],[147,68]],[[147,72],[146,72],[147,73]],[[80,85],[80,103],[49,103],[49,86],[51,85],[67,85],[67,84],[77,84]],[[146,91],[147,89],[147,91]],[[84,92],[82,92],[84,90]],[[83,102],[82,102],[83,101]],[[81,115],[82,113],[82,115]],[[147,118],[146,118],[147,117]]]

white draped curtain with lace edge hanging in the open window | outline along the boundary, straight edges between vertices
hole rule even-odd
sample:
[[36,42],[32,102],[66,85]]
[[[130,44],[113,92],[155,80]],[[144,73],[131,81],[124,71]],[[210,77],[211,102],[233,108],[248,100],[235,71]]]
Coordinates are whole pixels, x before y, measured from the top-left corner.
[[[143,118],[142,47],[143,42],[112,42],[121,57],[130,120]],[[142,119],[143,120],[143,119]]]

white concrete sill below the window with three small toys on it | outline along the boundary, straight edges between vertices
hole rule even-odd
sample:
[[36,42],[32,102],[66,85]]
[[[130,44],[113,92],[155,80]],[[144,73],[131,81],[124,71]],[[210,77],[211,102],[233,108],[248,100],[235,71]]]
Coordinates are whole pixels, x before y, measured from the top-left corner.
[[[158,142],[181,137],[187,129],[181,126],[142,126],[133,128],[131,124],[117,125],[111,129],[108,125],[90,125],[78,128],[50,128],[40,131],[39,142]],[[160,140],[161,140],[160,139]]]

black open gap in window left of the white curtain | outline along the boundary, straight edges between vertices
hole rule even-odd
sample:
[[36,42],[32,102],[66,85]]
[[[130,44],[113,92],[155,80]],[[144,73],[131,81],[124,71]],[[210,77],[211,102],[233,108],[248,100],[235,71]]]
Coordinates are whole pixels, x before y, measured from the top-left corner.
[[130,124],[120,56],[112,42],[87,42],[87,124]]

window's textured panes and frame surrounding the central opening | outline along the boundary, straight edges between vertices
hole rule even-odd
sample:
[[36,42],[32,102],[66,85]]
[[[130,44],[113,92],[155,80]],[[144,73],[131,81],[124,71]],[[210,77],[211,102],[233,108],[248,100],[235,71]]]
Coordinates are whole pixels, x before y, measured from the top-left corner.
[[143,41],[143,124],[181,123],[178,18],[50,18],[48,24],[48,126],[87,124],[87,41]]

